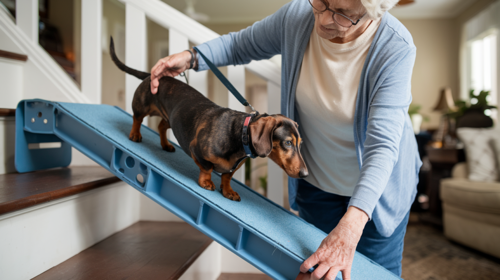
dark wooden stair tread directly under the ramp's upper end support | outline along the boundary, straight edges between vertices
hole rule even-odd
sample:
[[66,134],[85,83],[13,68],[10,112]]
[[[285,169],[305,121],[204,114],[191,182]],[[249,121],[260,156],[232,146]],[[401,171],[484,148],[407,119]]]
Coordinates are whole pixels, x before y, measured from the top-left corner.
[[120,181],[100,166],[0,175],[0,215]]

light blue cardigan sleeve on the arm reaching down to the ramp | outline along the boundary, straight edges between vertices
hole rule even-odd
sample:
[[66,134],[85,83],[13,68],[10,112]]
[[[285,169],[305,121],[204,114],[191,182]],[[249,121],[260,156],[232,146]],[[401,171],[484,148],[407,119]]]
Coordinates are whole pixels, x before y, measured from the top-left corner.
[[395,66],[369,102],[361,169],[349,202],[349,206],[363,210],[369,219],[398,159],[399,142],[411,103],[415,55],[414,46],[399,51],[397,56],[401,58],[393,61]]

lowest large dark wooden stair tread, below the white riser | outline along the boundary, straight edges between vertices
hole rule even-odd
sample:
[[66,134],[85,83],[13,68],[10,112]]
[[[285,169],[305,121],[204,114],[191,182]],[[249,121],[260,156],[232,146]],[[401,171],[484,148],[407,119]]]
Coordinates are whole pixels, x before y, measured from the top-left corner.
[[33,280],[175,280],[211,242],[186,223],[138,222]]

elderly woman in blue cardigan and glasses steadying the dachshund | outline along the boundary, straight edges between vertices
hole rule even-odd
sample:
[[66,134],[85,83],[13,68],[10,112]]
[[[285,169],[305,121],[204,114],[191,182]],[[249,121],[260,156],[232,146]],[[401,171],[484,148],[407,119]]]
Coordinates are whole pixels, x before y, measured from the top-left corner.
[[[407,114],[415,46],[386,12],[396,2],[293,0],[197,46],[217,66],[282,55],[281,112],[299,123],[309,171],[289,180],[290,205],[329,233],[297,279],[333,280],[341,271],[348,280],[355,250],[401,274],[421,162]],[[158,78],[190,66],[208,68],[201,57],[191,63],[188,51],[160,59],[152,93]]]

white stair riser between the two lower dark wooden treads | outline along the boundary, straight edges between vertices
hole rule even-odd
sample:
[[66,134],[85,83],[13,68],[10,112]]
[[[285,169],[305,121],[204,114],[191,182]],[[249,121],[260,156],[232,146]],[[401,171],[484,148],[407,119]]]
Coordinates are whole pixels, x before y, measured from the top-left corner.
[[123,182],[0,216],[1,279],[27,280],[139,220]]

